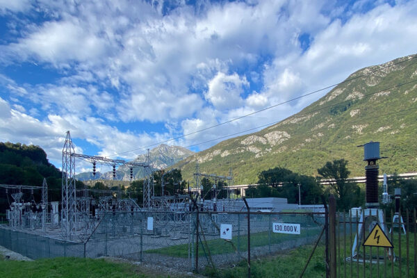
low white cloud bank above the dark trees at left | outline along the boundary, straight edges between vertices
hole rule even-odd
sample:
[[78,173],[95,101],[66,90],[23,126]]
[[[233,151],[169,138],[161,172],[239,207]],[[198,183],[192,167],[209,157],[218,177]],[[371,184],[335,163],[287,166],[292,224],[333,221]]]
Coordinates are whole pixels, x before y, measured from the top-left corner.
[[[45,120],[40,121],[10,108],[8,102],[0,98],[0,134],[4,141],[39,145],[46,150],[48,157],[54,163],[59,163],[67,130],[71,131],[72,138],[83,139],[99,147],[101,156],[111,156],[124,152],[126,149],[151,145],[154,140],[166,140],[169,136],[167,134],[150,135],[145,132],[140,134],[122,132],[95,117],[81,120],[75,115],[50,114]],[[144,151],[137,149],[135,152],[120,156],[134,158]],[[78,147],[76,152],[82,153],[83,149]]]

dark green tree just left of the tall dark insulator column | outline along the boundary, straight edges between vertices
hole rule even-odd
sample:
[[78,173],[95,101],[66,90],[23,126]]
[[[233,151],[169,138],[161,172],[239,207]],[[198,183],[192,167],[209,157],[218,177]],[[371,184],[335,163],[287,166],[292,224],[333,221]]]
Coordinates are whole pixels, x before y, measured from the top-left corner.
[[350,171],[347,170],[347,161],[343,158],[335,159],[317,170],[320,176],[329,181],[329,189],[332,188],[336,195],[336,204],[339,210],[347,211],[360,204],[360,188],[356,183],[347,181]]

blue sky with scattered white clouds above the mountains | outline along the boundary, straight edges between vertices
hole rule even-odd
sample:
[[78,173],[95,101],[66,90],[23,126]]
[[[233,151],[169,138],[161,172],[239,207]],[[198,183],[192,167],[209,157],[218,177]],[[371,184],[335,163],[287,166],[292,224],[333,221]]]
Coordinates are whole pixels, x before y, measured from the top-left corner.
[[[415,54],[416,15],[416,1],[0,0],[0,141],[60,167],[70,130],[76,152],[132,159]],[[169,144],[206,149],[325,93]]]

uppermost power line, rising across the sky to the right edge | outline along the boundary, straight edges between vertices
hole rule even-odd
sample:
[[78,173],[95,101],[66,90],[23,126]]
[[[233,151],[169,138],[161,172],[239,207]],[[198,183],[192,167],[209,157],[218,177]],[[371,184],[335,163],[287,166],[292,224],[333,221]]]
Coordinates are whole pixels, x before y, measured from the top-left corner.
[[[217,126],[221,126],[221,125],[224,125],[224,124],[228,124],[228,123],[230,123],[230,122],[234,122],[234,121],[237,121],[237,120],[243,119],[244,117],[249,117],[249,116],[254,115],[254,114],[256,114],[256,113],[261,113],[261,112],[263,112],[263,111],[267,111],[267,110],[269,110],[269,109],[271,109],[271,108],[275,108],[275,107],[277,107],[277,106],[281,106],[281,105],[283,105],[283,104],[288,104],[288,103],[289,103],[289,102],[291,102],[291,101],[295,101],[295,100],[297,100],[297,99],[301,99],[301,98],[303,98],[303,97],[307,97],[307,96],[309,96],[309,95],[316,94],[317,92],[321,92],[321,91],[323,91],[323,90],[327,90],[327,89],[332,88],[332,87],[335,87],[335,86],[337,86],[337,85],[341,85],[341,84],[343,84],[343,83],[347,83],[347,82],[350,82],[350,81],[352,81],[352,80],[359,79],[359,78],[361,78],[361,77],[363,77],[363,76],[367,76],[367,75],[373,74],[373,73],[375,73],[375,72],[379,72],[379,71],[381,71],[381,70],[385,70],[385,69],[387,69],[387,68],[389,68],[389,67],[393,67],[393,66],[395,66],[395,65],[399,65],[399,64],[401,64],[401,63],[405,63],[405,62],[407,62],[407,61],[409,61],[409,60],[413,60],[413,59],[415,59],[415,58],[417,58],[417,56],[414,56],[414,57],[411,57],[411,58],[407,58],[406,60],[402,60],[402,61],[400,61],[400,62],[398,62],[398,63],[393,63],[393,64],[390,64],[390,65],[386,65],[385,67],[379,67],[377,70],[373,70],[373,71],[367,72],[367,73],[365,73],[365,74],[361,74],[361,75],[359,75],[359,76],[352,77],[351,79],[346,79],[345,81],[342,81],[342,82],[339,82],[339,83],[335,83],[335,84],[333,84],[333,85],[328,85],[328,86],[327,86],[327,87],[325,87],[325,88],[321,88],[321,89],[319,89],[319,90],[315,90],[315,91],[312,91],[312,92],[308,92],[308,93],[306,93],[305,95],[301,95],[300,97],[295,97],[295,98],[293,98],[293,99],[288,99],[287,101],[283,101],[283,102],[281,102],[281,103],[279,103],[279,104],[275,104],[275,105],[272,105],[272,106],[268,106],[268,107],[263,108],[263,109],[261,109],[261,110],[259,110],[259,111],[254,111],[254,112],[252,112],[252,113],[248,113],[248,114],[246,114],[246,115],[243,115],[243,116],[240,116],[240,117],[236,117],[236,118],[231,119],[231,120],[228,120],[228,121],[226,121],[226,122],[221,122],[220,124],[215,124],[215,125],[213,125],[213,126],[208,126],[208,127],[204,128],[204,129],[199,129],[198,131],[193,131],[193,132],[191,132],[191,133],[183,134],[182,136],[177,136],[177,137],[174,137],[174,138],[170,138],[170,139],[168,139],[168,140],[161,141],[161,142],[157,142],[157,143],[154,143],[154,144],[152,144],[152,145],[147,145],[147,146],[145,146],[145,147],[138,147],[138,148],[136,148],[136,149],[131,149],[131,150],[126,151],[126,152],[120,152],[120,153],[117,153],[117,154],[112,154],[111,156],[117,156],[117,155],[120,155],[120,154],[126,154],[126,153],[129,153],[129,152],[136,151],[136,150],[138,150],[138,149],[147,149],[147,148],[149,148],[149,147],[153,147],[153,146],[156,146],[156,145],[160,145],[160,144],[163,144],[163,143],[165,143],[165,142],[170,142],[170,141],[173,141],[173,140],[177,140],[177,139],[180,139],[180,138],[184,138],[184,137],[186,137],[186,136],[190,136],[190,135],[193,135],[193,134],[196,134],[196,133],[200,133],[200,132],[202,132],[202,131],[206,131],[206,130],[208,130],[208,129],[213,129],[213,128],[217,127]],[[108,156],[108,157],[111,157],[111,156]]]

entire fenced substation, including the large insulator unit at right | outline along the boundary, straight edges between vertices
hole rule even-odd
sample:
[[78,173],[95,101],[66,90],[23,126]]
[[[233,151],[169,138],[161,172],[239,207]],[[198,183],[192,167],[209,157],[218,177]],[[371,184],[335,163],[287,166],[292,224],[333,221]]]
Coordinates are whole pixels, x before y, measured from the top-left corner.
[[[330,204],[331,197],[329,206],[324,200],[321,205],[302,205],[300,184],[298,204],[288,204],[286,198],[277,197],[236,198],[235,190],[241,189],[234,186],[231,170],[228,175],[205,174],[200,172],[198,161],[192,187],[188,183],[183,188],[185,181],[171,180],[167,190],[167,177],[174,170],[162,171],[161,183],[156,187],[149,150],[143,162],[76,154],[67,131],[60,202],[48,197],[45,179],[42,186],[0,184],[9,204],[7,222],[0,224],[0,245],[31,259],[116,256],[199,271],[207,266],[217,268],[250,261],[251,256],[274,254],[300,245],[318,245],[323,234],[332,234],[329,233],[332,209],[333,219],[338,217],[339,221],[338,225],[333,224],[338,229],[333,232],[334,239],[337,233],[341,236],[341,231],[351,238],[350,245],[345,246],[350,254],[345,251],[345,259],[340,261],[350,265],[379,265],[389,259],[398,263],[401,260],[386,235],[409,236],[409,224],[404,225],[400,212],[400,188],[395,188],[395,214],[391,216],[389,230],[379,204],[377,161],[383,158],[379,155],[379,142],[359,147],[363,147],[363,161],[367,163],[366,208],[357,210],[356,215],[351,210],[347,220],[346,213],[336,213],[335,206]],[[77,187],[76,161],[90,164],[93,177],[98,165],[110,167],[113,180],[119,169],[129,174],[130,181],[133,172],[142,171],[142,205],[129,195],[129,190]],[[391,202],[386,175],[381,199],[385,205]],[[248,243],[250,237],[253,241]],[[325,240],[326,244],[331,244],[330,241]],[[335,244],[331,245],[334,250]],[[379,251],[372,253],[373,246],[382,247],[384,255]]]

